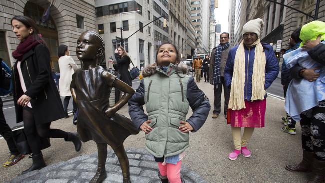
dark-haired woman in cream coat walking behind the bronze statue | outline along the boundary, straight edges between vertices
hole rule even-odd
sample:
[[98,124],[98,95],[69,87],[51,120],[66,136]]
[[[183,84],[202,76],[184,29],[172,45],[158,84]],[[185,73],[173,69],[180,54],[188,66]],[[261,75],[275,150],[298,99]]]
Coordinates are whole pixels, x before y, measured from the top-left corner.
[[[65,96],[63,101],[63,107],[66,118],[69,117],[69,115],[67,114],[67,107],[71,99],[70,85],[72,81],[72,75],[77,69],[79,69],[78,66],[75,64],[73,58],[69,55],[70,51],[68,50],[68,47],[66,45],[62,44],[58,47],[58,66],[60,67],[60,80],[58,84],[60,89],[60,95]],[[72,104],[72,113],[74,115],[77,110],[77,106],[74,100],[72,100]]]

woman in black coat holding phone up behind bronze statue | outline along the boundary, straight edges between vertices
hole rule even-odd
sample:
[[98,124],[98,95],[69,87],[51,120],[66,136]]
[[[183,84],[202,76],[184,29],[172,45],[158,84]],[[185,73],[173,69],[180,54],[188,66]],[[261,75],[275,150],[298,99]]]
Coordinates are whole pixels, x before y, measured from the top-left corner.
[[[132,79],[128,68],[131,64],[131,58],[127,55],[124,47],[119,46],[115,50],[115,58],[116,63],[113,64],[114,69],[117,71],[119,75],[119,79],[129,86],[132,86]],[[119,101],[120,91],[118,89],[115,90],[115,103]]]

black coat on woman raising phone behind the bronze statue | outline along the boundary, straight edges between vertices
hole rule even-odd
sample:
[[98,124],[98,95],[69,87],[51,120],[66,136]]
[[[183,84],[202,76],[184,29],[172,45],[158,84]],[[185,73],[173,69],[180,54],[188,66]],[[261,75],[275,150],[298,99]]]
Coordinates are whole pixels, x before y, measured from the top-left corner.
[[117,64],[114,64],[114,69],[120,74],[120,80],[132,86],[132,79],[128,68],[131,64],[131,59],[128,56],[119,57],[118,53],[115,53],[115,58],[117,60]]

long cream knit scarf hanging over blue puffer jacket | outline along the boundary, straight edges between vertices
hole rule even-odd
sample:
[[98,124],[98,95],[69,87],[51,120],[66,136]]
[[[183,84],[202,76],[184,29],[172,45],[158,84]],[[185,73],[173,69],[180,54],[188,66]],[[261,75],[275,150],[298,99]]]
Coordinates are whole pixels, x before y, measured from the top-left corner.
[[[251,101],[263,100],[265,96],[265,65],[266,57],[260,39],[258,38],[253,44],[255,48],[255,58],[252,75],[252,96]],[[248,57],[249,59],[249,57]],[[248,60],[249,61],[249,60]],[[251,63],[251,61],[249,61]],[[247,71],[248,72],[248,71]],[[244,87],[245,87],[245,49],[244,43],[241,41],[236,56],[234,58],[234,68],[231,81],[230,99],[228,108],[232,110],[240,110],[246,108],[244,101]],[[248,85],[246,86],[248,87]]]

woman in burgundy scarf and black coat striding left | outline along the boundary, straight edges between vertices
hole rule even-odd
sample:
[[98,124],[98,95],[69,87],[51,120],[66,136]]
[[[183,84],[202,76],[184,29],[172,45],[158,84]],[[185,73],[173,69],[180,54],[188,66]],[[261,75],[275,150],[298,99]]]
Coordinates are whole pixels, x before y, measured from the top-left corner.
[[11,19],[13,32],[20,40],[12,56],[13,100],[17,123],[23,121],[24,132],[32,152],[32,166],[22,174],[46,166],[41,152],[40,137],[64,138],[73,142],[75,150],[81,148],[77,134],[51,129],[52,121],[63,118],[60,95],[51,75],[50,53],[40,37],[37,24],[27,16]]

